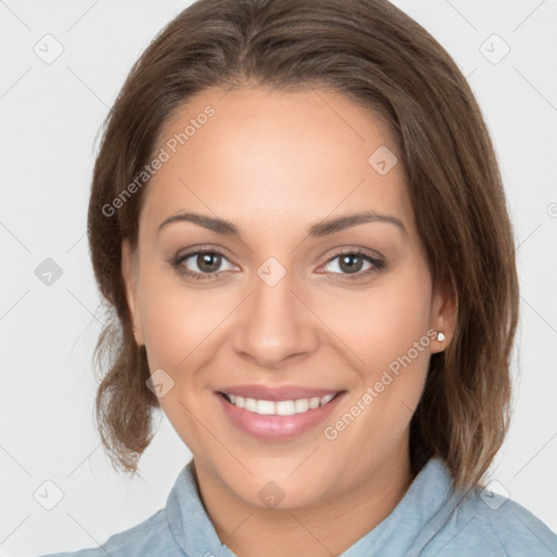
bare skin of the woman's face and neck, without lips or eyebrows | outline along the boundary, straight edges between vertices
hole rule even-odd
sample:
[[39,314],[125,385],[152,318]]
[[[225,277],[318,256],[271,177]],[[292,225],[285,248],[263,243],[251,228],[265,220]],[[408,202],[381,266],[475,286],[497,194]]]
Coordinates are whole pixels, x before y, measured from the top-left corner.
[[[214,116],[145,191],[137,249],[123,244],[135,338],[151,373],[162,368],[174,381],[160,403],[194,455],[221,542],[240,557],[339,555],[392,512],[413,480],[409,422],[430,355],[454,334],[455,296],[432,288],[401,164],[382,176],[368,163],[383,145],[397,154],[377,115],[323,90],[212,88],[166,121],[157,150],[208,104]],[[376,221],[308,235],[323,219],[362,210],[396,216],[406,232]],[[180,221],[157,233],[186,211],[232,221],[242,239]],[[199,247],[225,252],[220,276],[194,281],[171,265]],[[384,267],[363,259],[351,281],[335,256],[358,247]],[[257,274],[269,257],[286,270],[272,287]],[[200,272],[199,261],[182,267]],[[432,339],[327,440],[324,428],[431,329],[445,341]],[[215,398],[219,387],[248,383],[347,394],[323,424],[268,442],[237,430]],[[276,508],[258,497],[269,481],[284,493]]]

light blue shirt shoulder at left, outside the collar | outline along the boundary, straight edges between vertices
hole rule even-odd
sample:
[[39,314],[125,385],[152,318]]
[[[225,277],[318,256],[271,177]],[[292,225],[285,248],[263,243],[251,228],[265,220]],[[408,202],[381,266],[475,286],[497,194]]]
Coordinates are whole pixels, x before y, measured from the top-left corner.
[[42,557],[106,557],[107,555],[111,557],[127,557],[129,555],[184,556],[174,542],[166,520],[166,511],[162,508],[144,522],[111,535],[97,547],[48,554]]

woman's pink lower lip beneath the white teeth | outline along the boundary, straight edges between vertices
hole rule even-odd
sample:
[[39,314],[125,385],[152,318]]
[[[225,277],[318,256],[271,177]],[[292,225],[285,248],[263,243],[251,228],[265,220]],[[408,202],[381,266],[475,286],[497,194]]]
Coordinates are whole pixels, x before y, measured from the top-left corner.
[[338,393],[330,403],[307,412],[293,416],[261,416],[228,403],[224,396],[215,393],[224,413],[240,431],[265,441],[288,441],[301,435],[323,422],[344,397]]

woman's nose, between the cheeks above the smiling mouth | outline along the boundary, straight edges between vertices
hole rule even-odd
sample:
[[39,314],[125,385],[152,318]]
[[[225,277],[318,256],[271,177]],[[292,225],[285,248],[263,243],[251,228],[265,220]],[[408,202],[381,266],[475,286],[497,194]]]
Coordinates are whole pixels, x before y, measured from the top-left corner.
[[[280,369],[311,355],[319,345],[318,319],[288,273],[271,286],[255,277],[255,292],[242,305],[233,348],[259,367]],[[299,290],[299,288],[297,288]]]

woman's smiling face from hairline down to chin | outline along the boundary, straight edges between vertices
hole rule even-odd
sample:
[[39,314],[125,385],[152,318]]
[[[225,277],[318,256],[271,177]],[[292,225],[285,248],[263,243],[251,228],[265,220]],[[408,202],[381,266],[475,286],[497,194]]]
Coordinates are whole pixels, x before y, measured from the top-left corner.
[[432,290],[387,127],[323,90],[214,88],[166,122],[153,157],[123,272],[196,468],[283,508],[407,470],[454,306]]

